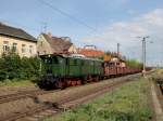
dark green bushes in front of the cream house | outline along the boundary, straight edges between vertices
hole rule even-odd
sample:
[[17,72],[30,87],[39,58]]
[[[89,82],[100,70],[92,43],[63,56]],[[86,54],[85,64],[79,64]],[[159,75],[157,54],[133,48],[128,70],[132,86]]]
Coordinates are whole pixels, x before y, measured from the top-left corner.
[[3,53],[0,58],[0,81],[28,80],[39,77],[38,57],[20,57],[16,53]]

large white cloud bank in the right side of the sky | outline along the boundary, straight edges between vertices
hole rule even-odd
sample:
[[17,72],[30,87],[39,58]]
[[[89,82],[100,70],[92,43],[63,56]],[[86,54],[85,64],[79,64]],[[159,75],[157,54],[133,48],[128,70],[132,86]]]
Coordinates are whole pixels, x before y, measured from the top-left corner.
[[[163,9],[136,16],[126,22],[113,23],[106,26],[101,33],[91,35],[80,42],[95,44],[102,50],[116,51],[116,43],[121,43],[121,51],[130,58],[141,58],[141,41],[138,36],[150,36],[147,43],[148,64],[163,60]],[[163,64],[163,62],[162,62]]]

